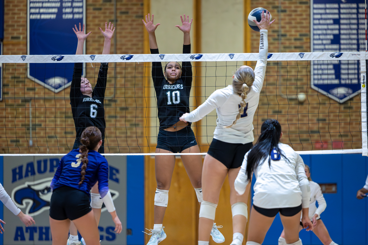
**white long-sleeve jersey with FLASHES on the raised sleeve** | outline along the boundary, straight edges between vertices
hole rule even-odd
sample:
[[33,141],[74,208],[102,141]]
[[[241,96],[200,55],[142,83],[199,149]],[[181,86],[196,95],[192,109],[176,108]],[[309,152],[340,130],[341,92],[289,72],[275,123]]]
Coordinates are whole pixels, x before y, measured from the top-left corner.
[[247,98],[245,98],[247,106],[244,109],[244,114],[237,120],[236,125],[230,128],[224,128],[224,126],[229,126],[233,123],[239,112],[241,97],[234,93],[232,85],[216,90],[202,105],[190,114],[184,116],[187,122],[197,122],[216,108],[218,118],[213,138],[217,140],[240,144],[254,141],[253,116],[258,107],[259,93],[261,93],[263,80],[265,78],[268,53],[268,31],[261,30],[260,33],[259,57],[254,69],[254,83],[249,90],[250,92]]

